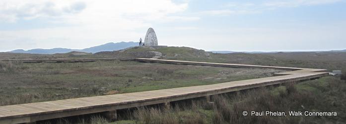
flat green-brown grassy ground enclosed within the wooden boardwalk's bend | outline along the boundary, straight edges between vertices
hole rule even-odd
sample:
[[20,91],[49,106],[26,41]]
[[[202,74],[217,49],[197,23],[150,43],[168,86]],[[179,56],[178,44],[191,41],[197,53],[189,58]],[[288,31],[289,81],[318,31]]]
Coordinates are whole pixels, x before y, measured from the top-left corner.
[[134,61],[0,62],[0,105],[223,83],[278,72]]

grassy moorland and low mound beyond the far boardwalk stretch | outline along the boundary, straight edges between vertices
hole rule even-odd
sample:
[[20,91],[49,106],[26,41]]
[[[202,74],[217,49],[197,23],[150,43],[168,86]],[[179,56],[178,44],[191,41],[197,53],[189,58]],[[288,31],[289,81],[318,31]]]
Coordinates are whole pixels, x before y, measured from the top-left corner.
[[[163,53],[162,59],[188,60],[203,62],[220,62],[235,64],[254,64],[283,67],[322,68],[342,70],[346,72],[346,52],[288,52],[288,53],[229,53],[219,54],[206,52],[190,47],[135,47],[126,50],[112,52],[98,52],[95,54],[76,54],[74,52],[65,54],[21,54],[0,52],[0,59],[9,58],[126,58],[153,56],[148,51],[159,51]],[[78,52],[77,52],[78,53]]]

